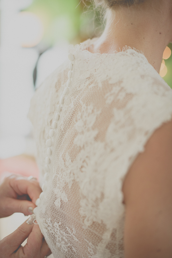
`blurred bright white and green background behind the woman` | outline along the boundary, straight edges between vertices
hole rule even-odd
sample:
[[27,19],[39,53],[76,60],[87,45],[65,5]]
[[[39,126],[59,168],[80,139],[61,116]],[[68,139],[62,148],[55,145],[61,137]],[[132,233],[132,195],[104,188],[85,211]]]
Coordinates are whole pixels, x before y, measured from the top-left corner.
[[[99,36],[100,14],[80,0],[0,0],[0,174],[37,173],[32,126],[27,119],[34,90],[67,58],[69,44]],[[172,44],[165,49],[160,75],[172,88]],[[25,156],[19,156],[24,153]],[[17,156],[23,164],[15,168]],[[29,163],[28,163],[29,164]],[[9,167],[8,167],[9,166]],[[16,170],[15,170],[16,169]],[[7,173],[6,173],[7,174]],[[2,176],[3,177],[3,176]],[[0,239],[25,220],[0,220]],[[23,216],[23,217],[20,217]],[[19,221],[19,222],[17,222]],[[8,226],[8,227],[7,227]]]

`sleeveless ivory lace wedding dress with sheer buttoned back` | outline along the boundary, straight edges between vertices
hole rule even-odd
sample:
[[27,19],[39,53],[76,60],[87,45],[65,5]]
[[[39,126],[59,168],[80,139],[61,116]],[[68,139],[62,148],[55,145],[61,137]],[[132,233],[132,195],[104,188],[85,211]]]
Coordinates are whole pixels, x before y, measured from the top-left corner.
[[124,257],[124,178],[172,118],[172,90],[142,52],[92,54],[92,42],[70,46],[29,111],[43,190],[34,212],[58,258]]

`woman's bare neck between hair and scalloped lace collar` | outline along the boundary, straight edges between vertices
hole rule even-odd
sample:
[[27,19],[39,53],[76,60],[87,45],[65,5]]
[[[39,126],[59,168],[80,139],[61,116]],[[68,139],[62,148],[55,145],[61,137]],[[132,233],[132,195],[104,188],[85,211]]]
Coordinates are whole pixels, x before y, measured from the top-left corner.
[[169,6],[161,12],[146,6],[146,9],[107,12],[107,23],[100,38],[90,48],[100,53],[111,53],[130,46],[141,50],[148,62],[159,73],[165,47],[172,41],[172,18]]

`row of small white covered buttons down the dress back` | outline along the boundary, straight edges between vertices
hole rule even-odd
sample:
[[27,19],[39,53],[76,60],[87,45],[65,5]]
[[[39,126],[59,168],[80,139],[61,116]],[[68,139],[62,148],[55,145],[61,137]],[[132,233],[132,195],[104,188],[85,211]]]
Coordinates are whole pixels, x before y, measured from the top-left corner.
[[[73,70],[73,61],[74,61],[74,56],[69,53],[68,54],[68,58],[69,60],[71,61],[71,63],[69,64],[69,72],[68,72],[68,80],[67,80],[67,84],[66,84],[66,87],[64,88],[63,92],[62,92],[62,95],[60,97],[60,101],[59,101],[59,105],[57,106],[57,113],[55,115],[55,119],[52,123],[52,129],[50,129],[50,132],[49,132],[49,136],[50,136],[50,139],[48,139],[46,141],[46,146],[48,147],[47,149],[47,154],[48,156],[46,157],[46,165],[45,165],[45,170],[46,170],[46,173],[44,175],[44,184],[42,185],[42,191],[45,190],[45,187],[46,187],[46,180],[48,178],[48,171],[49,171],[49,164],[50,164],[50,156],[52,155],[52,150],[51,150],[51,147],[52,147],[52,138],[54,137],[54,130],[56,129],[57,127],[57,121],[59,120],[59,117],[60,117],[60,112],[62,110],[62,106],[63,106],[63,103],[64,103],[64,97],[65,95],[67,94],[67,92],[69,91],[69,87],[71,86],[71,77],[72,77],[72,70]],[[43,192],[40,194],[39,198],[36,200],[36,206],[38,206],[39,202],[40,202],[40,198],[43,196]]]

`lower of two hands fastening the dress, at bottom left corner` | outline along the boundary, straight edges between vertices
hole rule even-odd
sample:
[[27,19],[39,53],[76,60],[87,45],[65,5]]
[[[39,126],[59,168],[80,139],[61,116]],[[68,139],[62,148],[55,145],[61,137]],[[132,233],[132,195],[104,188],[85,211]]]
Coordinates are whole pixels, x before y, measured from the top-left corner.
[[[27,244],[21,244],[28,237]],[[43,258],[51,251],[38,225],[24,222],[16,231],[0,241],[0,258]]]

